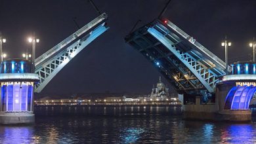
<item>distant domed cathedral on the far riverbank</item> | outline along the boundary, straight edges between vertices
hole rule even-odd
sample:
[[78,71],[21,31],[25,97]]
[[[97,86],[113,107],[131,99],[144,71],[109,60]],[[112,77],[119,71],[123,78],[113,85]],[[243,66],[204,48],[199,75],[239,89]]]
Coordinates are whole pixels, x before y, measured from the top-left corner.
[[156,88],[153,85],[152,92],[150,94],[150,101],[165,101],[169,96],[169,88],[161,82],[161,77],[159,77],[159,81],[156,84]]

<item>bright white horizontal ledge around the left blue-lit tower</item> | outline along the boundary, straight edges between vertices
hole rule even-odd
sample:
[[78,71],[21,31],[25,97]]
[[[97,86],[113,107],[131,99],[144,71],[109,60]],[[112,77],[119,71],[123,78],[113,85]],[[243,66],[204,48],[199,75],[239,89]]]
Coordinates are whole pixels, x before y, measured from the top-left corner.
[[0,81],[9,80],[9,79],[39,80],[39,77],[36,73],[1,73],[0,74]]

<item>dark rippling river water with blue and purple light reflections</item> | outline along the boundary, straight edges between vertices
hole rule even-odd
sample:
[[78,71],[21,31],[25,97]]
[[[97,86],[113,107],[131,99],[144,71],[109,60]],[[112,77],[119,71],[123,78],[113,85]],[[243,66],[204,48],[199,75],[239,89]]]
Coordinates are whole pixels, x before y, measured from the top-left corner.
[[35,107],[0,143],[256,143],[256,123],[182,120],[179,107]]

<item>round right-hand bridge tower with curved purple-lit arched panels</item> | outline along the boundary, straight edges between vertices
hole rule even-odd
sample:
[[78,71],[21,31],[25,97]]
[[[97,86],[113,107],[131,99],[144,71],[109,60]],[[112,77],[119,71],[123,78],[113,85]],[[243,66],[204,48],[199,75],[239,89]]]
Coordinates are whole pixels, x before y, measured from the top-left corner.
[[216,86],[217,110],[223,120],[250,121],[249,104],[256,93],[256,63],[236,62],[232,73],[224,75]]

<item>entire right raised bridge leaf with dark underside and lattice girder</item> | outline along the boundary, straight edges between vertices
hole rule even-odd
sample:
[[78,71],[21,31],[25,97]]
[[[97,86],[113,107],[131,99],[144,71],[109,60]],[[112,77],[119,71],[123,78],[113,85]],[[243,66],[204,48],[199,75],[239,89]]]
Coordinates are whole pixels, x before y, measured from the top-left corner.
[[214,93],[219,77],[226,74],[226,63],[169,20],[154,20],[125,41],[154,63],[178,92]]

